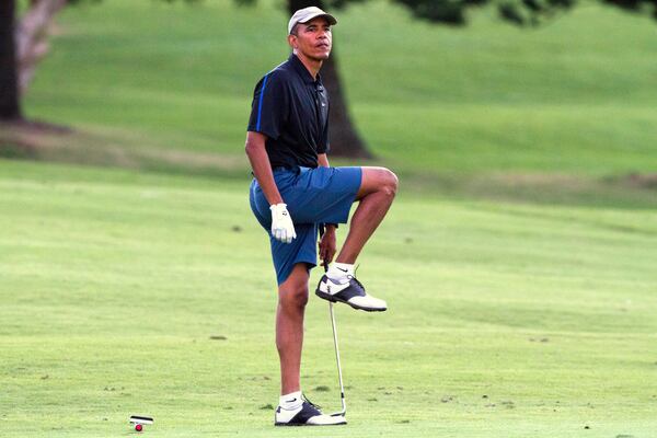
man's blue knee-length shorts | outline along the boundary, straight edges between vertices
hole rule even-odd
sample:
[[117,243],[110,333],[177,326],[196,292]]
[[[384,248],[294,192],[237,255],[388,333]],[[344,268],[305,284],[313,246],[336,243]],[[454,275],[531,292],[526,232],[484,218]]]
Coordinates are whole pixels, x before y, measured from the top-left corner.
[[318,264],[319,223],[347,223],[351,204],[360,188],[360,168],[276,169],[274,181],[295,223],[297,239],[283,243],[272,235],[269,203],[254,178],[251,183],[251,209],[272,244],[272,257],[278,284],[284,283],[297,263],[311,269]]

